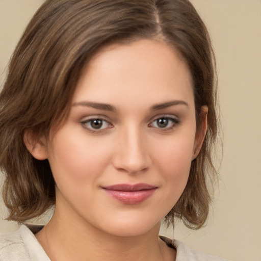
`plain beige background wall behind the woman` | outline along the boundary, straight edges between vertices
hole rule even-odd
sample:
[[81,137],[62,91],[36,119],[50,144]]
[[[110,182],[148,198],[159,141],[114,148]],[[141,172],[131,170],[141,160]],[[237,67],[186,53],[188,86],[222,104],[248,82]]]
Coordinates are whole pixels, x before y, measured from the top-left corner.
[[[189,246],[238,261],[261,260],[261,1],[193,0],[217,55],[224,155],[220,189],[206,228],[176,227]],[[41,0],[0,0],[0,82]],[[1,207],[5,216],[5,208]],[[0,231],[15,229],[0,220]],[[173,237],[171,230],[162,233]]]

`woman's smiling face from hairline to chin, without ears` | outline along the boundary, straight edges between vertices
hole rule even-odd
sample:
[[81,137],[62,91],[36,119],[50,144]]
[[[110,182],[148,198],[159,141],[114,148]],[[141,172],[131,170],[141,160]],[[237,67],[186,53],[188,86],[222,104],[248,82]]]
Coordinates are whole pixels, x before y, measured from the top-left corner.
[[152,40],[103,48],[44,142],[57,211],[118,236],[146,233],[184,191],[195,137],[191,76],[177,51]]

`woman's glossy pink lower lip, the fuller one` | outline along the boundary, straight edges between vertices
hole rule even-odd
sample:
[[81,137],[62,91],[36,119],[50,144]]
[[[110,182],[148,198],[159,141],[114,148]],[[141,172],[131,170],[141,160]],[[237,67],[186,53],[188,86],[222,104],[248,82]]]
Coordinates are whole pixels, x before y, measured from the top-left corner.
[[156,188],[139,191],[117,191],[105,190],[110,196],[125,204],[138,204],[148,199],[155,192]]

